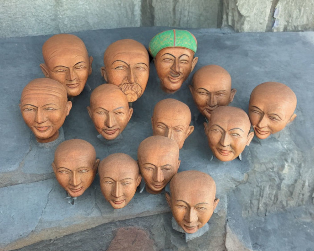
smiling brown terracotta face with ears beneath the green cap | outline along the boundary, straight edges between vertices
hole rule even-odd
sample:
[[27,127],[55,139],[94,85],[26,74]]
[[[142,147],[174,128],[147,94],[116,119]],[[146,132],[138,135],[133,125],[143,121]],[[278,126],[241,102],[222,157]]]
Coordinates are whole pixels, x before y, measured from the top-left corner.
[[194,52],[184,47],[167,47],[160,50],[154,58],[154,63],[162,89],[167,93],[179,90],[197,61]]

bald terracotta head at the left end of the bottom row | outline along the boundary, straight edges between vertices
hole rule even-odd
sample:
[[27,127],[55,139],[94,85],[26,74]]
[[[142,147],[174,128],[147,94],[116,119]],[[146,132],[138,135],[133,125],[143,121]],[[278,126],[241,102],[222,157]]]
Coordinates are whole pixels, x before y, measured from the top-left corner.
[[62,142],[56,149],[52,162],[59,184],[72,197],[78,197],[92,184],[99,159],[94,147],[82,139]]

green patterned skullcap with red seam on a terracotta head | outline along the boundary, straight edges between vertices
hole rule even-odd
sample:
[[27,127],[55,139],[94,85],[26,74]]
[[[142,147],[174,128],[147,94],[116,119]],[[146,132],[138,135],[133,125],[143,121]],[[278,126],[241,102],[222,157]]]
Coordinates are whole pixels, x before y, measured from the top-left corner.
[[197,50],[197,40],[194,35],[184,29],[171,29],[155,35],[149,42],[149,53],[156,57],[157,53],[167,47],[185,47],[194,53]]

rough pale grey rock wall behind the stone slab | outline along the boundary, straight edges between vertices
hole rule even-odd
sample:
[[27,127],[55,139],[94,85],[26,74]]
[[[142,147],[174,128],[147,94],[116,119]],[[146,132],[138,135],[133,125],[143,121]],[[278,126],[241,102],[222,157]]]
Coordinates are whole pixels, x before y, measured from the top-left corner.
[[2,1],[0,38],[139,26],[303,31],[314,29],[313,12],[312,0]]

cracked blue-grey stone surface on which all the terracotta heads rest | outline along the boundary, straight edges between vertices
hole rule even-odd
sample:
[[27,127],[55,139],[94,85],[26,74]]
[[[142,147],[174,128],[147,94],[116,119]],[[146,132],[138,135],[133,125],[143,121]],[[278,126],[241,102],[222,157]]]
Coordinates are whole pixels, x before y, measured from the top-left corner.
[[[93,73],[87,82],[91,89],[104,83],[99,69],[109,44],[127,37],[147,47],[149,40],[164,29],[147,27],[75,33],[94,57]],[[218,64],[230,72],[232,87],[237,89],[232,106],[247,111],[250,93],[257,84],[279,81],[290,86],[297,96],[296,119],[265,140],[254,138],[244,150],[242,161],[238,158],[226,163],[216,158],[210,161],[212,153],[203,131],[204,120],[187,87],[192,74],[178,92],[166,94],[159,87],[151,63],[145,93],[133,103],[133,116],[119,139],[108,142],[97,138],[98,133],[86,110],[90,95],[86,89],[72,100],[73,108],[62,128],[65,139],[81,138],[90,142],[96,149],[97,158],[124,152],[136,159],[139,143],[152,134],[150,117],[154,105],[165,98],[186,103],[192,111],[195,131],[180,150],[179,171],[197,169],[210,174],[216,181],[220,201],[209,221],[209,231],[186,243],[184,236],[171,228],[170,209],[164,194],[136,193],[125,208],[113,210],[101,195],[98,176],[73,205],[72,200],[65,199],[67,194],[51,169],[54,148],[51,147],[48,153],[46,148],[31,147],[31,133],[18,106],[26,83],[43,77],[39,68],[43,62],[41,46],[49,36],[10,38],[0,39],[3,82],[0,116],[4,118],[0,121],[3,142],[0,145],[0,250],[22,248],[39,241],[43,242],[38,248],[43,243],[61,245],[70,242],[69,234],[79,234],[79,231],[107,238],[107,246],[103,244],[103,249],[99,248],[98,244],[102,243],[99,241],[86,244],[90,249],[84,250],[106,250],[104,247],[109,246],[115,231],[130,224],[148,231],[156,250],[283,250],[280,247],[285,244],[281,239],[276,242],[276,237],[270,238],[275,235],[276,228],[283,226],[278,239],[289,240],[284,250],[298,247],[298,251],[311,251],[313,238],[310,237],[314,229],[311,223],[314,33],[190,31],[198,39],[196,56],[199,61],[194,72],[207,64]],[[296,222],[300,224],[294,227]],[[93,232],[99,225],[107,229],[103,235]],[[291,236],[299,237],[300,241]],[[73,249],[81,244],[76,241],[71,245],[69,247]],[[41,250],[54,250],[42,247]]]

